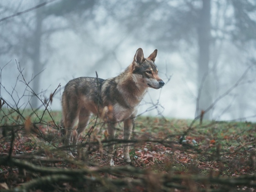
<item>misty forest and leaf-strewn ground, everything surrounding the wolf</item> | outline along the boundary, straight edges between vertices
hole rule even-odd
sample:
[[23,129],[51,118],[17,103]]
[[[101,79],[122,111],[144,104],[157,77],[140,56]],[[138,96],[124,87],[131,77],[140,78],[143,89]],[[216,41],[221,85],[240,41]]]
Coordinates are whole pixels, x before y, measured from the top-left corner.
[[[139,47],[166,84],[131,140],[94,116],[64,146],[65,84],[115,77]],[[0,1],[0,191],[256,191],[255,51],[255,0]]]

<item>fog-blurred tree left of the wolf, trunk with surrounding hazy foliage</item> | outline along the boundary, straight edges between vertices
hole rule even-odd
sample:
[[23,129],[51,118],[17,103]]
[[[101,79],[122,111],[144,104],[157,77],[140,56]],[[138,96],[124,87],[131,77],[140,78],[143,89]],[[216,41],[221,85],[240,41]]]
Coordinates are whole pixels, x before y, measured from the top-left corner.
[[[71,26],[60,27],[60,26],[50,26],[46,29],[44,20],[51,16],[65,16],[66,14],[82,14],[85,10],[92,9],[96,0],[62,0],[57,2],[49,3],[47,6],[41,6],[31,10],[29,13],[7,19],[4,22],[8,24],[9,31],[3,32],[0,36],[0,40],[4,44],[4,49],[1,54],[8,53],[15,54],[23,58],[21,60],[30,60],[33,72],[33,86],[32,89],[36,95],[40,97],[40,72],[47,65],[48,60],[42,60],[42,47],[46,46],[46,39],[51,33],[69,29]],[[33,2],[35,3],[35,2]],[[38,0],[37,4],[44,3],[43,0]],[[26,8],[28,8],[31,3],[27,2]],[[15,14],[19,12],[22,3],[16,5],[16,9],[8,8],[7,5],[0,5],[0,7],[5,8],[2,12],[3,14]],[[12,5],[11,5],[12,6]],[[10,7],[11,7],[10,6]],[[14,6],[15,7],[15,6]],[[17,31],[17,28],[20,30]],[[11,35],[10,35],[11,33]],[[1,43],[0,43],[1,44]],[[5,50],[5,51],[4,51]],[[48,53],[50,54],[50,53]],[[24,62],[28,63],[28,61]],[[30,104],[32,108],[38,107],[39,99],[35,96],[32,97]]]

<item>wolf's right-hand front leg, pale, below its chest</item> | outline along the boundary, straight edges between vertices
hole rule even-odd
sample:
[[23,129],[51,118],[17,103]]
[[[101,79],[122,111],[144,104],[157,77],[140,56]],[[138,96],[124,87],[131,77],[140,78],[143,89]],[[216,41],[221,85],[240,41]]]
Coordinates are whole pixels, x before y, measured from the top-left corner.
[[[133,128],[134,119],[127,119],[124,121],[124,140],[130,140]],[[130,155],[129,155],[129,145],[130,143],[125,144],[123,149],[124,161],[130,163]]]

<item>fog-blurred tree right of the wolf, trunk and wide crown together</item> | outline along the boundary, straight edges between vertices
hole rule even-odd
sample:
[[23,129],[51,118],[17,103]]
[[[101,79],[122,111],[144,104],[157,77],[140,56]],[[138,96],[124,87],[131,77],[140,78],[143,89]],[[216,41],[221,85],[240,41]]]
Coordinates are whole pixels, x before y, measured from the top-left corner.
[[[241,44],[256,40],[256,5],[253,1],[147,0],[114,3],[114,11],[111,3],[105,7],[137,41],[153,44],[169,53],[182,50],[183,55],[192,55],[193,63],[197,64],[196,116],[218,96],[216,70],[223,45],[228,42],[240,44],[241,48]],[[124,8],[130,11],[124,12]],[[193,65],[190,61],[187,63],[188,67]],[[192,76],[188,71],[188,76]],[[205,113],[206,119],[210,116],[211,110]]]

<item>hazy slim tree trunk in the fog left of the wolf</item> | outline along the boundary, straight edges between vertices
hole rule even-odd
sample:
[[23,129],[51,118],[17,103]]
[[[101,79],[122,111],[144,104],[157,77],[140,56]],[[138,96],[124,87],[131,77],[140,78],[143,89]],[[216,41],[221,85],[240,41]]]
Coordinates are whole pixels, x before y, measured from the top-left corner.
[[[35,94],[40,94],[40,72],[42,70],[42,64],[40,63],[40,47],[41,47],[41,36],[42,36],[42,8],[36,9],[36,27],[33,38],[33,54],[32,54],[32,62],[33,62],[33,86],[32,89]],[[40,96],[40,95],[39,95]],[[36,96],[33,96],[31,99],[32,108],[38,107],[39,99]]]

